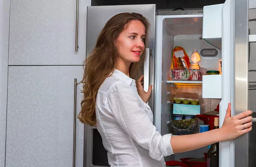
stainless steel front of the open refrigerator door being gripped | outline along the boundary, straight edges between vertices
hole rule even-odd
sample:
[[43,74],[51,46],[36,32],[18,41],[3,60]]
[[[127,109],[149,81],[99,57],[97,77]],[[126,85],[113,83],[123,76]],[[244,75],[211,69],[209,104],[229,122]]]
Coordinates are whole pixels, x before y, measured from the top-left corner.
[[[231,66],[231,79],[234,93],[231,100],[232,115],[240,114],[249,108],[248,96],[248,60],[249,60],[249,25],[248,0],[231,0],[231,46],[233,46],[234,63]],[[233,38],[232,38],[233,37]],[[233,78],[232,78],[233,77]],[[232,90],[233,89],[233,90]],[[232,94],[231,94],[232,95]],[[234,146],[232,157],[235,167],[249,167],[249,133],[231,142]]]

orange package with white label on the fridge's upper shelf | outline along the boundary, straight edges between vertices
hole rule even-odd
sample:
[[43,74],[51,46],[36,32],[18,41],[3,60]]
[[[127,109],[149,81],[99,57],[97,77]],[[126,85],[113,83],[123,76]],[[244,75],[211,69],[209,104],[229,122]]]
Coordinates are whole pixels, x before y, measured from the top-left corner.
[[185,49],[176,46],[172,50],[172,68],[189,68],[190,61]]

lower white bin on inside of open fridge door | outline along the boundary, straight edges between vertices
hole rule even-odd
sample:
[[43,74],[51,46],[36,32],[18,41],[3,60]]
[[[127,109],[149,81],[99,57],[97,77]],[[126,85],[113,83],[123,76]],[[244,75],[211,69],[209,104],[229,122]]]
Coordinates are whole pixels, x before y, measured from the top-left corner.
[[221,99],[222,75],[203,75],[202,98]]

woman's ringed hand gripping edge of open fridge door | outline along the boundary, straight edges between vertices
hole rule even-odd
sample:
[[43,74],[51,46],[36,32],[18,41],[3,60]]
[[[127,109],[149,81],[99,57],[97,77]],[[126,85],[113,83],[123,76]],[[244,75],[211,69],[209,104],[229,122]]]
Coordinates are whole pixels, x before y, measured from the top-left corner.
[[222,131],[224,140],[232,140],[244,133],[250,132],[252,129],[251,110],[244,111],[231,117],[231,105],[228,104],[227,113],[220,130]]

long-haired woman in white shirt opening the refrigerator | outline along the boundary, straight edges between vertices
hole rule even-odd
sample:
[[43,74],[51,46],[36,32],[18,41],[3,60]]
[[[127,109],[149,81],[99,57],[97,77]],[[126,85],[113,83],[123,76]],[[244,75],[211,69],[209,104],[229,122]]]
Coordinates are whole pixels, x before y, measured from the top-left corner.
[[152,85],[144,92],[140,83],[143,76],[137,84],[132,79],[137,77],[145,58],[148,30],[149,22],[140,14],[115,15],[105,24],[86,60],[79,119],[97,126],[111,167],[165,167],[165,156],[235,139],[251,131],[252,111],[231,117],[229,104],[219,129],[161,136],[146,104]]

